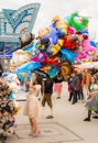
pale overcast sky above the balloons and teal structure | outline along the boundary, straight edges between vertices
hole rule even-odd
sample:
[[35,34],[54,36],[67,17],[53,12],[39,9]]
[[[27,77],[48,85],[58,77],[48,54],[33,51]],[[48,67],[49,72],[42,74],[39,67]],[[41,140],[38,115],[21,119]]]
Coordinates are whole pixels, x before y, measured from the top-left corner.
[[98,38],[98,0],[0,0],[2,9],[15,9],[29,3],[40,2],[41,8],[33,28],[33,33],[51,24],[52,18],[58,15],[61,19],[78,11],[79,14],[89,16],[89,32],[92,38]]

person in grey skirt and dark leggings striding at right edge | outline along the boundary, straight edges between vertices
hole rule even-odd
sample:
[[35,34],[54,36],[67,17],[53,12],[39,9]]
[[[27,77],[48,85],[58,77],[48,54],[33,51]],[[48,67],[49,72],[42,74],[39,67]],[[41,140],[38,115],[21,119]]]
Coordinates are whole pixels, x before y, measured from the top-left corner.
[[91,111],[98,111],[98,85],[95,77],[91,77],[91,84],[89,87],[89,96],[86,101],[86,107],[88,108],[88,117],[84,121],[90,121]]

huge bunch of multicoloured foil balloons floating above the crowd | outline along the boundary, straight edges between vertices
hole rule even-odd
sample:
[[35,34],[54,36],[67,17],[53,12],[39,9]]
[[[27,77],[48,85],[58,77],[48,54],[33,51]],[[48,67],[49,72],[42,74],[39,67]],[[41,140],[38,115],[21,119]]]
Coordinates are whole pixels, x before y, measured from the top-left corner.
[[23,50],[30,53],[31,62],[15,73],[42,69],[55,77],[61,68],[68,77],[73,64],[92,59],[97,45],[90,40],[88,19],[75,12],[64,20],[54,16],[50,26],[39,31],[32,46]]

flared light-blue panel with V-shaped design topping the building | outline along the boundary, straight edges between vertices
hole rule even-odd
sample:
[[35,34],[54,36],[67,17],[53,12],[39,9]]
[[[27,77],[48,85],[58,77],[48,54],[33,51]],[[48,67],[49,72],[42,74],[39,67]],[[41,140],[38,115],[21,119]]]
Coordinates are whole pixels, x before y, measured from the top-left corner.
[[30,3],[18,10],[2,9],[0,12],[0,35],[14,38],[24,28],[31,32],[40,9],[40,3]]

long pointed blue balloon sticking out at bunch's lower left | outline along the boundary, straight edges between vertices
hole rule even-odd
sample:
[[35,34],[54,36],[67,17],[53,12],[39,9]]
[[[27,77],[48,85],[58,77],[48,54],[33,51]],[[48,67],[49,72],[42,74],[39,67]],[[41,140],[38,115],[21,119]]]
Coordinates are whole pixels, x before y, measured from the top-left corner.
[[35,69],[39,69],[41,68],[42,65],[41,63],[36,63],[36,62],[29,62],[29,63],[25,63],[23,65],[21,65],[20,67],[18,67],[15,70],[13,70],[13,73],[28,73],[29,70],[35,70]]

